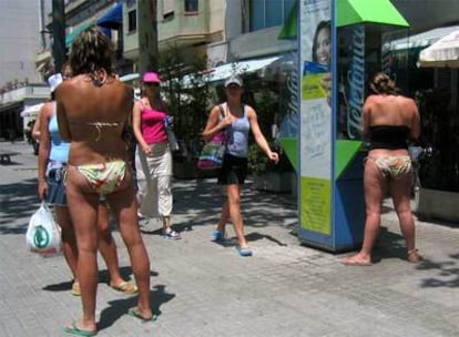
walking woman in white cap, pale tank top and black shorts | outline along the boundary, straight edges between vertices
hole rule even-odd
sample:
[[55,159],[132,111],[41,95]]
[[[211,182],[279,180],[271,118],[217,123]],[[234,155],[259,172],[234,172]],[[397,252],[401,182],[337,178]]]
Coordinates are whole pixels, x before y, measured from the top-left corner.
[[226,187],[227,201],[222,206],[213,239],[225,242],[225,226],[232,219],[239,244],[241,256],[252,256],[244,236],[244,225],[241,215],[241,186],[247,174],[248,131],[252,130],[258,146],[273,162],[277,163],[279,157],[276,152],[271,151],[259,125],[255,110],[242,102],[243,81],[239,76],[232,75],[225,82],[226,102],[212,109],[202,136],[210,141],[217,134],[225,134],[225,156],[218,173],[218,184]]

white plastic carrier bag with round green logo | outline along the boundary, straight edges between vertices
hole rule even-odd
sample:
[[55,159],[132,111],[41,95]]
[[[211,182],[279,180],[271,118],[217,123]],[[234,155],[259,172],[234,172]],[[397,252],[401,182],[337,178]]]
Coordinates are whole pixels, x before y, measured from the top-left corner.
[[26,242],[31,252],[41,255],[53,255],[61,252],[61,227],[55,223],[44,201],[29,221]]

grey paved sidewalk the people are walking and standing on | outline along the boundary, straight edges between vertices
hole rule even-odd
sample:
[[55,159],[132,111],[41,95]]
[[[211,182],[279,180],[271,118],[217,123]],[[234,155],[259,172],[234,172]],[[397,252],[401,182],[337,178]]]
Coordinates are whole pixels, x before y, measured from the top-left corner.
[[[62,256],[42,258],[26,249],[26,229],[38,208],[37,156],[23,142],[0,143],[18,152],[0,165],[0,336],[69,336],[78,318]],[[459,229],[418,222],[426,261],[405,261],[404,241],[389,204],[371,267],[346,267],[341,255],[300,245],[292,234],[296,202],[289,195],[243,195],[246,234],[254,248],[242,258],[233,246],[211,242],[222,196],[213,180],[174,182],[175,229],[142,222],[152,265],[155,323],[126,314],[135,297],[112,290],[100,263],[98,336],[459,336]],[[233,233],[233,232],[231,232]],[[132,276],[119,233],[120,265]]]

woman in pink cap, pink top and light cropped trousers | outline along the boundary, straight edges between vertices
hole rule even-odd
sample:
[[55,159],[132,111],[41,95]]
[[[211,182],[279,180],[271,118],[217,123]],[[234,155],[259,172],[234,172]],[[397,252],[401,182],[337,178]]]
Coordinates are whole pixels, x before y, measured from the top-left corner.
[[[141,212],[160,217],[163,236],[178,239],[171,228],[172,213],[172,154],[167,136],[166,105],[160,98],[160,76],[155,72],[143,75],[143,98],[134,104],[133,130],[139,155],[135,166]],[[147,214],[146,214],[147,213]]]

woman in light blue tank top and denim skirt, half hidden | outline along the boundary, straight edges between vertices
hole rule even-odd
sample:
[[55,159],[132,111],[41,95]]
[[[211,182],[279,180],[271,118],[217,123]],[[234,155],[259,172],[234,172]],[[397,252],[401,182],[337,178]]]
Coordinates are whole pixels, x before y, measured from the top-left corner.
[[[49,204],[53,205],[55,217],[62,228],[63,255],[73,275],[71,294],[80,296],[81,292],[76,273],[76,241],[67,206],[65,186],[63,184],[70,144],[63,142],[59,135],[54,101],[54,90],[64,79],[70,78],[69,67],[63,67],[63,76],[58,73],[48,79],[51,90],[51,101],[44,103],[40,111],[40,143],[42,146],[39,151],[38,161],[38,193],[41,200],[47,200]],[[106,207],[102,204],[99,206],[98,225],[99,251],[109,269],[110,286],[126,294],[136,293],[137,288],[135,285],[125,282],[120,275],[116,245],[110,231]]]

